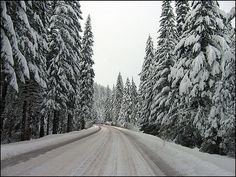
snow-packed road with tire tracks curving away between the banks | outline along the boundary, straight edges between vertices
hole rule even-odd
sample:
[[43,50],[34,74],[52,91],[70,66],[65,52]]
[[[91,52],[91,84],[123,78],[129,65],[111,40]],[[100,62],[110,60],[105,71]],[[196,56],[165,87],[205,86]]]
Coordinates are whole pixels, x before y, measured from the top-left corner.
[[4,161],[1,175],[180,175],[137,137],[111,126],[78,141]]

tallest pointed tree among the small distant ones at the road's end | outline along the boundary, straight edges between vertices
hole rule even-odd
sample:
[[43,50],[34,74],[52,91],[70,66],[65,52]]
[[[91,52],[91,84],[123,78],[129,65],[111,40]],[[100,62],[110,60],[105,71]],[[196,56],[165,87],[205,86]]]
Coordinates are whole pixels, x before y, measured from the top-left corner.
[[116,89],[115,90],[115,105],[114,105],[115,108],[114,108],[114,117],[113,117],[112,122],[116,125],[118,117],[119,117],[120,109],[121,109],[121,103],[123,99],[123,89],[124,89],[123,80],[120,73],[117,78],[115,89]]

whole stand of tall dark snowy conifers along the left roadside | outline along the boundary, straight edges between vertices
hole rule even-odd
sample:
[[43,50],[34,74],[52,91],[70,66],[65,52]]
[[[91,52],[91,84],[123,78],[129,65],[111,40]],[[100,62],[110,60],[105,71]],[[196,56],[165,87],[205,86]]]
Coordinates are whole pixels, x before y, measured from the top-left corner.
[[84,128],[76,126],[80,109],[95,116],[90,17],[82,40],[78,1],[1,1],[0,8],[2,142]]

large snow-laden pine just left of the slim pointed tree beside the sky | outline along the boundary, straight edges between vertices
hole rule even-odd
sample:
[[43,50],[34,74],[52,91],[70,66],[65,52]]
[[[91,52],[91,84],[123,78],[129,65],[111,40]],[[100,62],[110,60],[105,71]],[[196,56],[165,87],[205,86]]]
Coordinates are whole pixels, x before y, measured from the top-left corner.
[[79,19],[72,8],[73,2],[56,1],[52,4],[49,45],[49,87],[47,107],[54,110],[53,133],[58,132],[59,111],[74,108],[71,95],[76,95],[79,74]]

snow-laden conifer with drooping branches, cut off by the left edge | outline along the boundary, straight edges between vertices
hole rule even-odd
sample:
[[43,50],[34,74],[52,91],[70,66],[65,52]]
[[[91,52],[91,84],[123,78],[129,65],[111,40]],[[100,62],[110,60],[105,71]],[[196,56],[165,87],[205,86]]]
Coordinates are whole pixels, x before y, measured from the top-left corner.
[[[1,131],[3,126],[2,113],[8,85],[15,91],[19,90],[18,81],[29,79],[29,68],[22,45],[29,41],[30,31],[26,7],[23,1],[1,1]],[[22,36],[26,35],[26,36]],[[22,36],[22,38],[21,38]],[[27,43],[28,44],[28,43]],[[27,45],[26,44],[26,45]]]

